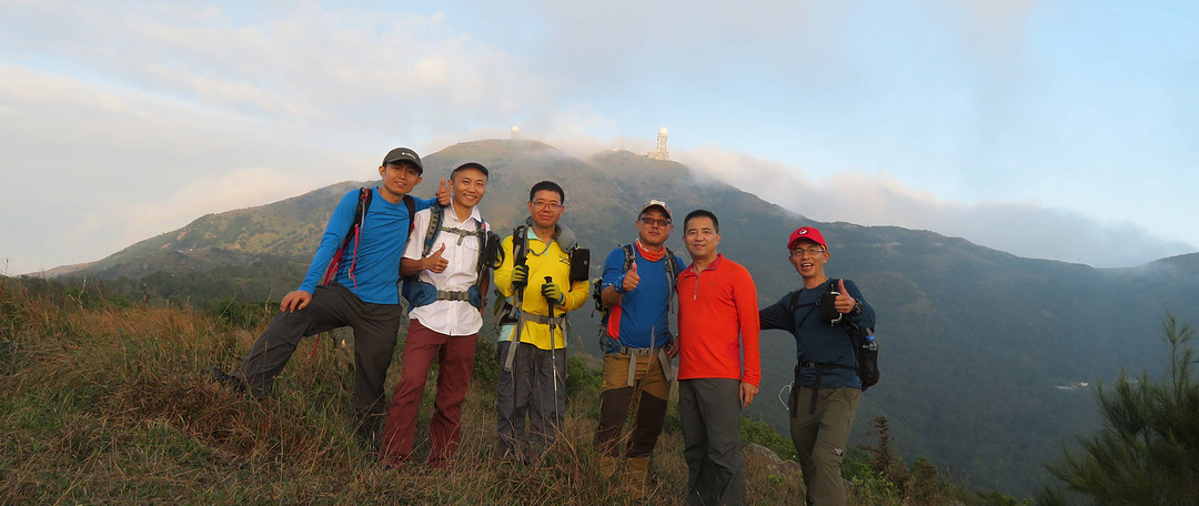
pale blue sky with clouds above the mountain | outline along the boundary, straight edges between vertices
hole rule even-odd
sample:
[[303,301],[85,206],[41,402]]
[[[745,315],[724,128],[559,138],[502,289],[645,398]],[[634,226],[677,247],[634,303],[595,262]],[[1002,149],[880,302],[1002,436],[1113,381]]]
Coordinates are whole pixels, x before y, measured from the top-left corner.
[[1096,266],[1199,249],[1199,4],[496,4],[0,1],[2,272],[512,125],[574,155],[664,126],[820,221]]

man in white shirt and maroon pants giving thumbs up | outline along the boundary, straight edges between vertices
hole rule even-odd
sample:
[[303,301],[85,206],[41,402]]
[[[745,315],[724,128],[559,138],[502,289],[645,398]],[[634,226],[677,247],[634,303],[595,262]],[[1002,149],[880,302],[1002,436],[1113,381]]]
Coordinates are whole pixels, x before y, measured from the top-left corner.
[[[470,388],[490,267],[486,260],[489,227],[476,207],[487,192],[487,177],[482,164],[459,165],[450,174],[450,206],[416,213],[399,269],[408,277],[404,296],[410,323],[382,438],[381,457],[387,465],[402,465],[412,452],[417,409],[434,357],[440,372],[428,465],[448,469],[462,436],[462,400]],[[440,224],[434,222],[439,218]]]

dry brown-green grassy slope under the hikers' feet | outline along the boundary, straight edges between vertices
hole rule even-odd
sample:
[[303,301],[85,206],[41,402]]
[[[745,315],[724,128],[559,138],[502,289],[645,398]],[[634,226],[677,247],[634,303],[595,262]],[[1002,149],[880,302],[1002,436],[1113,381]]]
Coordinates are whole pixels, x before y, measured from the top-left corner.
[[[379,465],[353,435],[349,356],[327,344],[335,339],[302,347],[276,394],[259,403],[199,373],[233,365],[253,339],[249,331],[185,309],[83,309],[70,296],[34,291],[0,278],[0,504],[627,502],[594,465],[598,380],[582,360],[572,360],[566,434],[541,465],[489,457],[496,365],[493,344],[481,342],[457,471],[420,464],[397,471]],[[424,404],[420,433],[428,398]],[[763,430],[757,423],[743,432]],[[777,433],[753,439],[785,447]],[[415,462],[428,451],[427,439],[418,435],[417,445]],[[677,502],[685,493],[681,447],[671,410],[653,457],[653,504]],[[751,451],[747,472],[751,502],[800,501],[794,462]],[[1007,504],[944,483],[926,483],[912,502],[868,470],[854,483],[856,505]]]

